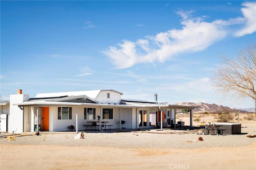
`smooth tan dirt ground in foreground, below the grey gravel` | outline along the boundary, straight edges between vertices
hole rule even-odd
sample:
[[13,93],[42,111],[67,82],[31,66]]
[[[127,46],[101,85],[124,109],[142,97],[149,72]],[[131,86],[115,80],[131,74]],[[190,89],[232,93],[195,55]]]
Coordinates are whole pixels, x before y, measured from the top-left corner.
[[[255,123],[250,121],[246,126],[256,128]],[[195,149],[13,144],[1,144],[0,149],[1,170],[256,169],[256,142],[246,146]]]

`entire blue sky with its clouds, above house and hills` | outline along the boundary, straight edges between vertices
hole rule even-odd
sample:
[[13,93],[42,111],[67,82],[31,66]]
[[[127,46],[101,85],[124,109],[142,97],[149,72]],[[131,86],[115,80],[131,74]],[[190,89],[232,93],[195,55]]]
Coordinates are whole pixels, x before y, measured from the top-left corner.
[[256,40],[255,1],[0,1],[1,96],[114,89],[125,99],[254,107],[212,82]]

